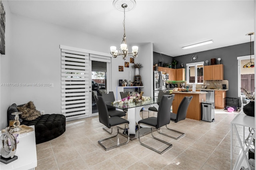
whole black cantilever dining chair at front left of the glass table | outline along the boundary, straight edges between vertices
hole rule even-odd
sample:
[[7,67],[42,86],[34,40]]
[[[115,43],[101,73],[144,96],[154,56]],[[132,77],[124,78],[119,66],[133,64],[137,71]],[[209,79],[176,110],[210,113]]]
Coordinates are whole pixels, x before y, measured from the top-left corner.
[[[110,150],[110,149],[116,148],[118,146],[127,144],[130,140],[129,121],[127,121],[126,119],[123,119],[121,117],[118,117],[118,116],[109,117],[108,108],[105,105],[105,101],[103,100],[102,96],[95,96],[95,101],[96,101],[98,111],[99,111],[100,123],[102,123],[103,125],[105,125],[108,128],[111,128],[111,129],[112,129],[112,127],[117,127],[116,135],[98,141],[100,146],[102,146],[105,150]],[[115,138],[116,136],[118,136],[119,125],[123,125],[123,124],[124,124],[124,128],[126,128],[126,126],[127,126],[127,129],[128,129],[127,141],[120,143],[120,141],[117,140],[117,143],[115,143],[114,146],[113,146],[113,144],[108,144],[108,146],[110,146],[110,147],[106,148],[106,146],[104,146],[102,143],[106,140],[109,140],[109,139],[112,139],[112,138]],[[114,140],[110,140],[110,142],[114,143]]]

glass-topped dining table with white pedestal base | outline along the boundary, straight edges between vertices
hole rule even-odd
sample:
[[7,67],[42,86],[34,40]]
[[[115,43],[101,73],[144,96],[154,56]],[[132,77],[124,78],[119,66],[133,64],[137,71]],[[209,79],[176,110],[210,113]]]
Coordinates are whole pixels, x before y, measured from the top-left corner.
[[[138,138],[138,132],[136,133],[136,123],[140,121],[142,118],[140,117],[140,110],[150,105],[149,107],[156,107],[158,109],[158,99],[154,99],[153,97],[151,100],[147,101],[140,101],[140,102],[132,102],[132,103],[124,103],[119,104],[113,102],[106,102],[107,106],[115,107],[117,109],[128,109],[127,112],[127,120],[129,121],[129,133],[130,133],[130,139],[133,140],[135,138]],[[141,128],[141,134],[148,134],[151,132],[150,128],[146,128],[146,126]]]

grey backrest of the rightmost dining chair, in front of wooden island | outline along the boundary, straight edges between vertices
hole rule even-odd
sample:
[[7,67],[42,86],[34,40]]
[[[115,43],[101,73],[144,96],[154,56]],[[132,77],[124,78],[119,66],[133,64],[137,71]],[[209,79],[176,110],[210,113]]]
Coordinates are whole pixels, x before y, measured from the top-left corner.
[[189,106],[192,98],[193,98],[193,96],[190,96],[190,97],[186,96],[182,99],[182,101],[180,102],[180,105],[178,107],[177,118],[176,118],[175,123],[177,123],[178,121],[182,121],[186,118],[188,106]]

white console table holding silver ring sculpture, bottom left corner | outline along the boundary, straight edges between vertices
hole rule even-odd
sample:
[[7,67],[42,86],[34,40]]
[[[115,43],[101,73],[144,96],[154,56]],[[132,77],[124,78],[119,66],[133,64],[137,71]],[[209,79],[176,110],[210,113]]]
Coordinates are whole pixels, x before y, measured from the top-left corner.
[[15,153],[18,159],[9,164],[0,162],[1,170],[30,170],[37,166],[35,130],[21,134],[18,138],[19,143]]

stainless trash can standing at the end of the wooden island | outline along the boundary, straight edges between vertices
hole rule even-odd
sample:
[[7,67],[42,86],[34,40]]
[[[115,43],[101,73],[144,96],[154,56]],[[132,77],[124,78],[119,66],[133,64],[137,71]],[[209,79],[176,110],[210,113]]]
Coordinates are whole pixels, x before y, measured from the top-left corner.
[[201,104],[201,119],[202,121],[214,122],[215,121],[215,103],[204,101]]

